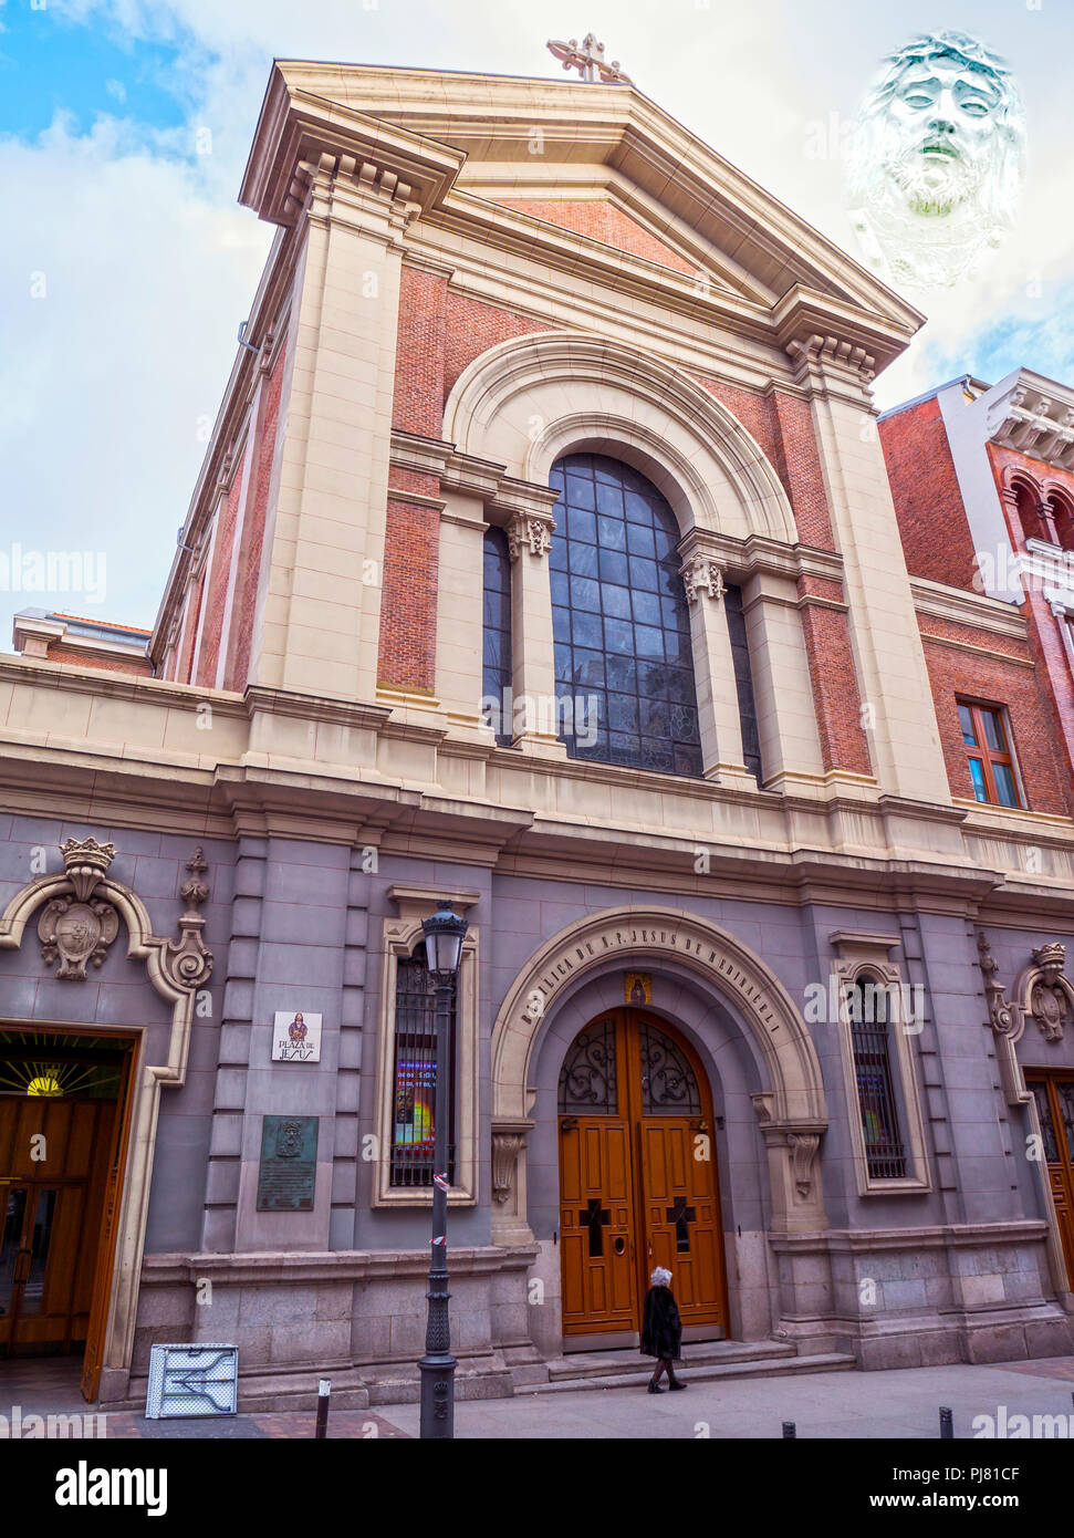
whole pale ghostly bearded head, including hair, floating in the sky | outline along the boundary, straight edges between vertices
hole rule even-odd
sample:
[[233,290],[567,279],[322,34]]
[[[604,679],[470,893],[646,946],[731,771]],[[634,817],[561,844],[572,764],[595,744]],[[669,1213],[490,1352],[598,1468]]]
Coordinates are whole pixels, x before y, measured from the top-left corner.
[[953,288],[1014,228],[1025,112],[1006,65],[965,32],[896,49],[854,122],[850,220],[896,289]]

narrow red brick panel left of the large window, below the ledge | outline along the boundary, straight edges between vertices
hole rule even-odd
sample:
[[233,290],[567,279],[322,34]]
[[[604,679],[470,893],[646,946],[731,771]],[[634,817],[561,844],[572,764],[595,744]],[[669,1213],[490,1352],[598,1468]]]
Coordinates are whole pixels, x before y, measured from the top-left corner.
[[[436,689],[439,511],[409,501],[406,494],[435,497],[438,484],[435,475],[392,468],[376,681],[416,694]],[[479,629],[476,635],[479,646]]]

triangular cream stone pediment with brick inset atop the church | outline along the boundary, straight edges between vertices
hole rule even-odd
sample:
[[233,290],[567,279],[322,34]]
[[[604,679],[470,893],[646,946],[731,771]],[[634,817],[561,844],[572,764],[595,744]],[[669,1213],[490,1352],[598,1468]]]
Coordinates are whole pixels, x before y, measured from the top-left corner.
[[877,368],[922,323],[633,85],[277,62],[241,201],[292,223],[295,178],[323,155],[398,178],[419,218],[455,238],[542,243],[573,269],[579,252],[641,258],[639,277],[662,269],[668,289],[776,326],[781,346],[804,303],[796,337],[853,331]]

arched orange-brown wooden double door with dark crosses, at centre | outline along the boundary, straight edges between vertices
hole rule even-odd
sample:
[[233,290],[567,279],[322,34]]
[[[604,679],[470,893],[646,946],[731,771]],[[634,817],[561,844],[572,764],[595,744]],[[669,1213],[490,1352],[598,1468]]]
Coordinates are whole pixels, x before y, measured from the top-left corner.
[[641,1009],[578,1034],[559,1075],[564,1335],[641,1329],[665,1266],[684,1329],[727,1333],[711,1097],[693,1050]]

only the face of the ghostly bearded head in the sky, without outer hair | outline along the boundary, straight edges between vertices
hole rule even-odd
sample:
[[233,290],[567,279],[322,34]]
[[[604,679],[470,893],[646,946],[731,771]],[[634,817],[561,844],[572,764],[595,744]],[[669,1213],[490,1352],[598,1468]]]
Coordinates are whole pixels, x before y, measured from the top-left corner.
[[882,171],[913,214],[943,217],[973,198],[989,169],[1000,92],[959,58],[907,68],[888,105]]

